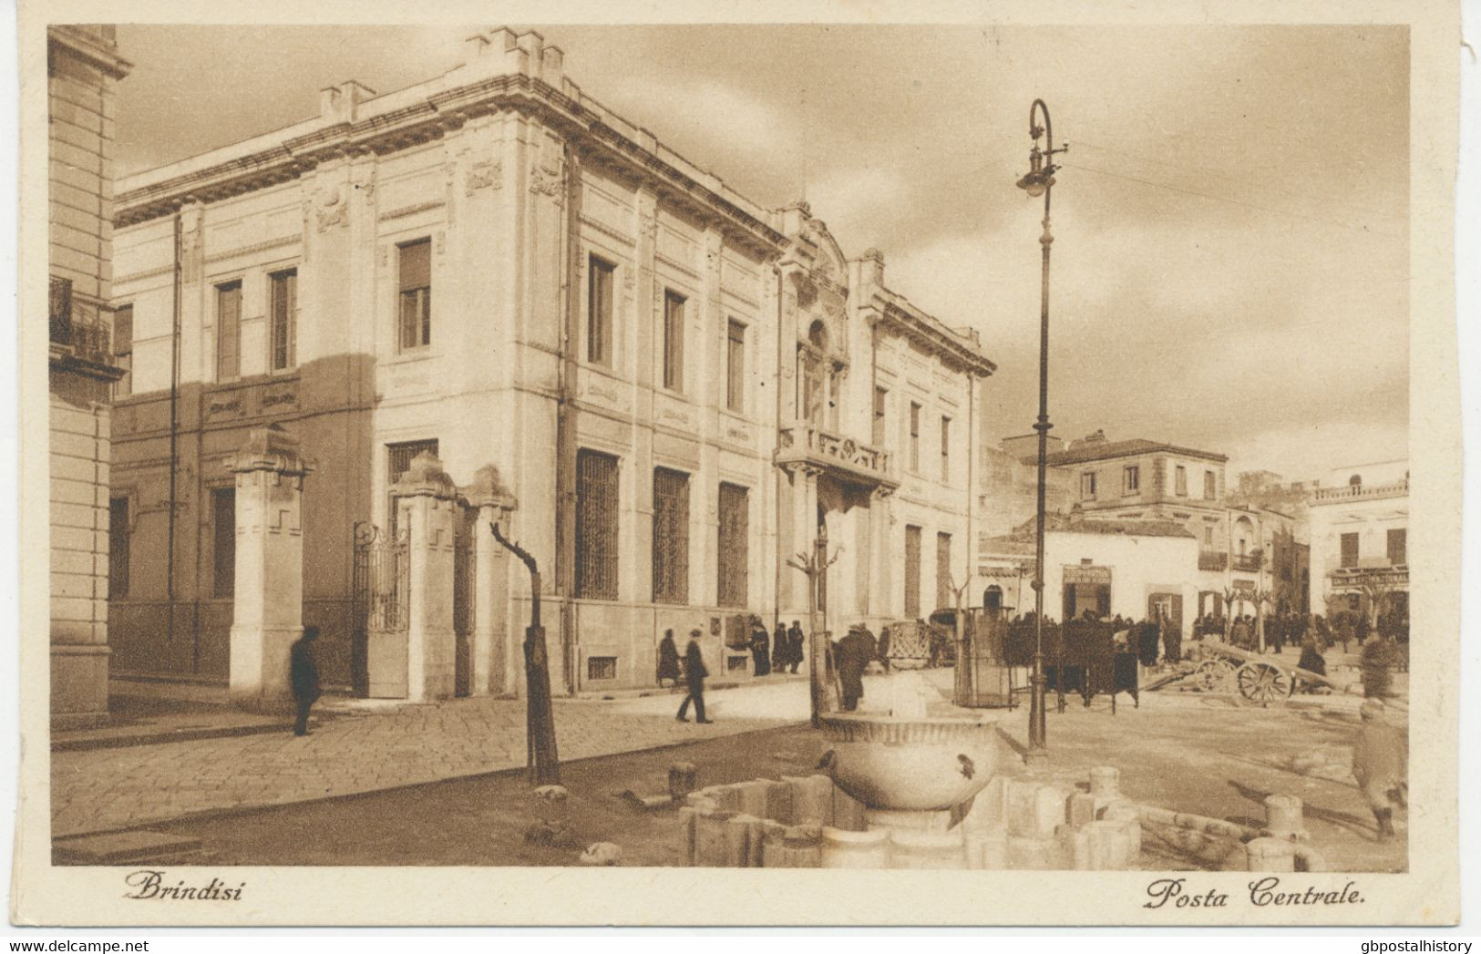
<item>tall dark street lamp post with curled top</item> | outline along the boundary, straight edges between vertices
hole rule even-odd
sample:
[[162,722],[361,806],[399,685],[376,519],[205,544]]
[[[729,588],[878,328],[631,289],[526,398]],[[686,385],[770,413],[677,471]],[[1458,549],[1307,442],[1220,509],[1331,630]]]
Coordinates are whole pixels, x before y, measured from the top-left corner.
[[[1044,117],[1040,126],[1037,119]],[[1044,249],[1044,273],[1040,292],[1038,313],[1038,510],[1034,527],[1034,676],[1029,680],[1029,713],[1028,713],[1028,755],[1029,764],[1044,764],[1049,760],[1049,744],[1044,732],[1044,478],[1049,458],[1049,246],[1054,237],[1049,233],[1049,199],[1054,187],[1054,156],[1069,147],[1054,148],[1054,133],[1049,121],[1049,107],[1043,99],[1035,99],[1028,110],[1028,135],[1034,141],[1034,148],[1028,154],[1029,170],[1017,185],[1031,199],[1044,197],[1044,234],[1038,244]],[[1038,148],[1038,139],[1044,136],[1044,150]]]

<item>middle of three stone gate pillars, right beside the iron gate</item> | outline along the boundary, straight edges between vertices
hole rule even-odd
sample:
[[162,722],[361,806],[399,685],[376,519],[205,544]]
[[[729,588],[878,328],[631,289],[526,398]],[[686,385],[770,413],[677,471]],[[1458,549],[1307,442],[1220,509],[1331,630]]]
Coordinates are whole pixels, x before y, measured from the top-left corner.
[[458,489],[443,471],[443,462],[424,450],[391,487],[391,496],[400,526],[410,529],[406,698],[412,702],[449,699],[458,652],[453,634]]

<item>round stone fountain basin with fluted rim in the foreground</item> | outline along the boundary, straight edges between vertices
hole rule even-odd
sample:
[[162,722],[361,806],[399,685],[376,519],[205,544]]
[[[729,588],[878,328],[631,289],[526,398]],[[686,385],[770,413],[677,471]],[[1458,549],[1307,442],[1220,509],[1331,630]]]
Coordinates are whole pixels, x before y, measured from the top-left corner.
[[838,788],[871,809],[954,809],[992,781],[1001,717],[831,713],[822,717],[828,772]]

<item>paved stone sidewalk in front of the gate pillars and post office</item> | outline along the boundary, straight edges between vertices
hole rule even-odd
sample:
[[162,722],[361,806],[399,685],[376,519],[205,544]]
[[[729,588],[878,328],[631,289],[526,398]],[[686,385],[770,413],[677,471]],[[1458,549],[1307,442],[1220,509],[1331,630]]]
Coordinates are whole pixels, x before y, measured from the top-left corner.
[[[718,721],[613,713],[610,704],[555,702],[563,760],[712,739],[782,724],[724,718],[724,692],[706,701]],[[221,716],[230,718],[228,716]],[[198,716],[197,716],[198,718]],[[52,834],[154,824],[201,812],[289,804],[524,766],[524,702],[453,699],[435,705],[344,704],[312,733],[195,738],[52,753]]]

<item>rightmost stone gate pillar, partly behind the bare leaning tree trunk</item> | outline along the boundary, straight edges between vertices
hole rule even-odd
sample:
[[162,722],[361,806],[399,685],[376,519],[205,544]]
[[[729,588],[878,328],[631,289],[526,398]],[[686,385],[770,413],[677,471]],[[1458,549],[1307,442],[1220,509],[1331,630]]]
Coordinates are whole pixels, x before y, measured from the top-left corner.
[[509,567],[504,547],[493,539],[492,524],[515,508],[514,495],[504,486],[499,468],[480,467],[472,486],[464,489],[469,507],[477,508],[474,524],[474,619],[471,695],[486,696],[511,690],[508,665]]

